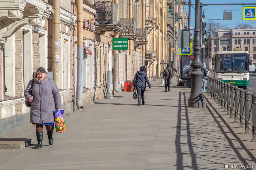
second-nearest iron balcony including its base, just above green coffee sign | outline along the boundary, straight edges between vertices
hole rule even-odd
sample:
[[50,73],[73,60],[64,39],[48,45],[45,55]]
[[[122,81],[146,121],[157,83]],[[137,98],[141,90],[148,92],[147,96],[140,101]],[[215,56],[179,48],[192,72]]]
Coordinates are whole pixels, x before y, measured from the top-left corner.
[[119,23],[121,25],[121,29],[119,32],[121,33],[119,35],[120,38],[128,38],[129,40],[136,40],[136,20],[135,19],[129,19],[129,18],[122,18],[119,19]]

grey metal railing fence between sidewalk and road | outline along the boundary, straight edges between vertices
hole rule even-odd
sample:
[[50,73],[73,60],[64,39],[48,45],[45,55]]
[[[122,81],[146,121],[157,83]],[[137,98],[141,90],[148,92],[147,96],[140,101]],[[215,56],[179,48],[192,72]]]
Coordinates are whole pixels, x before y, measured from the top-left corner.
[[207,76],[207,93],[256,141],[256,93]]

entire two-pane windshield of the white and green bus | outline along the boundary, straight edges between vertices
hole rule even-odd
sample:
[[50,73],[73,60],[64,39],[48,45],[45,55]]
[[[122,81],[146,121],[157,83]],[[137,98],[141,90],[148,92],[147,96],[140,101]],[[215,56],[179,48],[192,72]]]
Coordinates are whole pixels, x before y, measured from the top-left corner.
[[216,54],[217,73],[249,72],[248,54]]

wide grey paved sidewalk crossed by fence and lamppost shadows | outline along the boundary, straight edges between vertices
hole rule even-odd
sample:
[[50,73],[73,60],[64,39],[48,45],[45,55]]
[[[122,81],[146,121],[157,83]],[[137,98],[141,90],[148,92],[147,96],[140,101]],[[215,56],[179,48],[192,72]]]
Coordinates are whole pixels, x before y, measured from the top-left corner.
[[[66,132],[54,133],[52,146],[44,128],[41,149],[32,149],[34,144],[0,150],[0,169],[256,168],[255,148],[248,150],[246,147],[253,146],[238,140],[222,122],[222,115],[207,103],[210,100],[206,100],[206,108],[187,108],[190,89],[172,86],[171,92],[165,92],[162,79],[151,84],[152,89],[147,87],[145,92],[145,105],[137,106],[132,93],[120,92],[113,100],[65,116]],[[9,138],[33,136],[35,127]]]

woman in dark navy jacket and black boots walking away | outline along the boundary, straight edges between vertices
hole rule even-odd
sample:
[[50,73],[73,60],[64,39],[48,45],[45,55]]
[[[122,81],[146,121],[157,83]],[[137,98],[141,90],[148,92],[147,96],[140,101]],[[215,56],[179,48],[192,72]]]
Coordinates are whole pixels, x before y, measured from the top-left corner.
[[144,92],[146,89],[146,82],[151,89],[151,84],[147,78],[147,73],[146,73],[146,67],[141,66],[140,71],[137,71],[134,79],[133,79],[133,86],[135,86],[137,93],[138,93],[138,106],[141,106],[141,98],[142,98],[142,105],[145,104],[145,96]]

